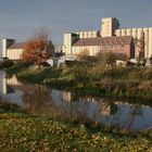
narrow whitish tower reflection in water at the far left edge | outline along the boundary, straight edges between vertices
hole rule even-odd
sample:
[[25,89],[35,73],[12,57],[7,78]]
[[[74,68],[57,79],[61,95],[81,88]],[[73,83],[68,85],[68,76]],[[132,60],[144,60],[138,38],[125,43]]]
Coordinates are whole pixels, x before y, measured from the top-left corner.
[[7,93],[7,80],[5,80],[5,73],[0,72],[0,93]]

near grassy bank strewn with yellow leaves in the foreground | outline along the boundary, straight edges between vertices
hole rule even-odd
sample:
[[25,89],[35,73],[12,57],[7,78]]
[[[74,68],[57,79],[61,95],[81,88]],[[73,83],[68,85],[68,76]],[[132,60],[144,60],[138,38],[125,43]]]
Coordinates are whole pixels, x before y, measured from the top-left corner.
[[[5,107],[9,109],[7,110]],[[0,102],[0,151],[152,151],[152,132],[123,134],[34,116]],[[3,110],[3,111],[2,111]]]

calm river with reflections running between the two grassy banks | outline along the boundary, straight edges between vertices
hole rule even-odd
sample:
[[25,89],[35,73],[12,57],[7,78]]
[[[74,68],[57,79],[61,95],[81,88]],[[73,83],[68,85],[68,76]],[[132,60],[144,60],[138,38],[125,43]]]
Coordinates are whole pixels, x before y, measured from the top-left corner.
[[152,127],[152,103],[79,97],[45,86],[25,85],[17,81],[15,76],[9,77],[3,72],[0,72],[0,93],[33,114],[60,116],[79,122],[90,119],[131,130]]

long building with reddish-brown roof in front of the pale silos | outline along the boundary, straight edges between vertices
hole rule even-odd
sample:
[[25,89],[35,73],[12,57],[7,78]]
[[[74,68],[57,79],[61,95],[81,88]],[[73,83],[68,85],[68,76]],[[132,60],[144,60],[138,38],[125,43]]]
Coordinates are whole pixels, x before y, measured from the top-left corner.
[[134,58],[134,41],[131,37],[106,37],[106,38],[80,38],[72,46],[73,55],[87,51],[89,55],[97,55],[100,52],[115,52],[124,54],[128,59]]

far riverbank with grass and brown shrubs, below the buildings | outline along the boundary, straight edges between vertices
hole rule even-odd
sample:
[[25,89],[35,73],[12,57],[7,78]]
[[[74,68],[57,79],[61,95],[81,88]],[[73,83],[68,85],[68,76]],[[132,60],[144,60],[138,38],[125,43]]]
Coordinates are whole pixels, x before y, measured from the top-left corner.
[[87,65],[45,67],[21,71],[17,78],[84,94],[152,99],[152,68]]

